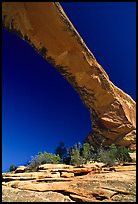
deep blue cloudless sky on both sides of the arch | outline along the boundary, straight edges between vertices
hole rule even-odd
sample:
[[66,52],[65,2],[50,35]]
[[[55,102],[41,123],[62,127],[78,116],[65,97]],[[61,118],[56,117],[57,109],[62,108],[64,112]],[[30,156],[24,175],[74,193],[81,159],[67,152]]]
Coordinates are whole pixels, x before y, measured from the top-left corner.
[[[136,99],[135,3],[61,3],[111,81]],[[2,169],[88,135],[89,111],[28,43],[2,31]]]

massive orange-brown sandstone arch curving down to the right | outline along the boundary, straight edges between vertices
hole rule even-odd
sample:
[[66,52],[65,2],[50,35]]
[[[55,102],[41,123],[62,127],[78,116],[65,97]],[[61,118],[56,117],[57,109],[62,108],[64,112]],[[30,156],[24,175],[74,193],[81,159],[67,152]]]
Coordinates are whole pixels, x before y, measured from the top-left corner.
[[90,110],[98,147],[136,145],[136,103],[115,86],[58,2],[3,2],[2,23],[29,42],[78,92]]

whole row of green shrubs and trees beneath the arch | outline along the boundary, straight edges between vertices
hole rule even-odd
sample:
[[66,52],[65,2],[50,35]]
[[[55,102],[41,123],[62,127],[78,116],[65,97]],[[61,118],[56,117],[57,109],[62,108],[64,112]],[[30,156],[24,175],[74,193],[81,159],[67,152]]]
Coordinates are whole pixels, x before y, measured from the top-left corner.
[[80,165],[87,164],[88,162],[103,162],[108,165],[113,165],[115,162],[130,162],[131,157],[129,150],[126,147],[115,146],[112,144],[107,149],[102,146],[96,150],[89,143],[77,144],[65,148],[64,143],[60,142],[58,147],[55,149],[55,154],[47,153],[44,151],[38,152],[38,154],[32,157],[28,163],[30,171],[35,171],[41,164],[70,164]]

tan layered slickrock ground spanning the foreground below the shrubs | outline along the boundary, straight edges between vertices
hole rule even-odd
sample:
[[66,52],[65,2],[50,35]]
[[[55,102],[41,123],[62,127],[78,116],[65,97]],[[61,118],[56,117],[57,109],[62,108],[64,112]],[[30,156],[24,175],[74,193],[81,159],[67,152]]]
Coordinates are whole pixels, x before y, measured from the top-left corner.
[[[106,167],[102,163],[93,163],[80,167],[63,166],[62,164],[60,166],[51,165],[51,167],[45,165],[47,170],[43,170],[43,172],[3,173],[2,201],[136,201],[136,163],[127,163],[114,167]],[[75,174],[76,169],[79,170],[79,174]],[[69,170],[72,173],[69,173]],[[57,177],[55,173],[59,173],[60,176]],[[71,176],[62,176],[68,174]]]

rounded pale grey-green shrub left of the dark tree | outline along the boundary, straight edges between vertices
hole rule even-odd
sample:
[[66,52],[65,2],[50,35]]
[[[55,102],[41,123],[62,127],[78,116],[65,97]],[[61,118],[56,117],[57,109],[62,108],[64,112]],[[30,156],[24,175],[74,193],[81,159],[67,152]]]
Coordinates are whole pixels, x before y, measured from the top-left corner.
[[59,155],[39,152],[35,157],[32,157],[31,161],[29,161],[28,167],[32,170],[36,170],[41,164],[58,164],[60,162],[61,158]]

